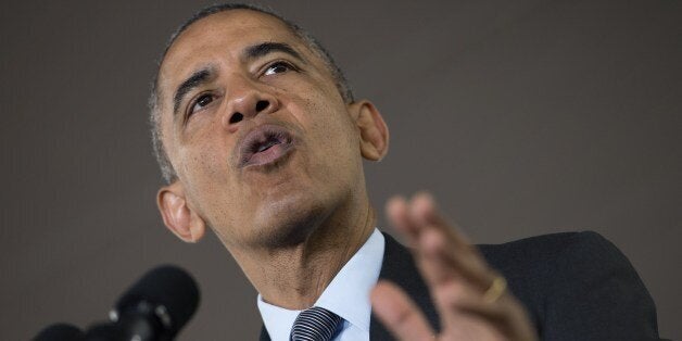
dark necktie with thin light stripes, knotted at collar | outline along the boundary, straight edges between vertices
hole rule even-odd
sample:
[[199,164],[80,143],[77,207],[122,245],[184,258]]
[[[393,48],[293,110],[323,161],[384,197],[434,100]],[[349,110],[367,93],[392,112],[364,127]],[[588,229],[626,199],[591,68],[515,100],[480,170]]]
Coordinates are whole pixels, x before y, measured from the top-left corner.
[[291,327],[291,341],[329,341],[341,323],[339,315],[319,306],[299,314]]

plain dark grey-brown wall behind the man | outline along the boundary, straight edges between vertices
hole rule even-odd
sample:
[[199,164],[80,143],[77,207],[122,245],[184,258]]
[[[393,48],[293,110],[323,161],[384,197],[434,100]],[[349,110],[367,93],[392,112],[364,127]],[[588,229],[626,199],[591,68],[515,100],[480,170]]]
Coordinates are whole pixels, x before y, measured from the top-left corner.
[[[181,340],[255,339],[256,293],[230,255],[213,236],[177,241],[153,201],[148,83],[202,3],[0,5],[0,339],[103,319],[159,263],[201,282]],[[386,115],[391,153],[367,165],[379,210],[429,189],[476,242],[596,230],[682,338],[681,1],[265,3]]]

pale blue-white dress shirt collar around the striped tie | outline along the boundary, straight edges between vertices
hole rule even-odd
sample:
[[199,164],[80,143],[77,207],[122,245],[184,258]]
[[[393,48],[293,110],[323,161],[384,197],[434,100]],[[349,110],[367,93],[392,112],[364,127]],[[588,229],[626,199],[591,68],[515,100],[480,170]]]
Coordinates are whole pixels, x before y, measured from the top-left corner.
[[[375,228],[365,244],[331,280],[314,306],[324,307],[343,318],[334,341],[369,340],[371,304],[369,291],[379,279],[383,261],[383,235]],[[301,311],[290,311],[263,301],[258,311],[273,341],[289,341],[293,321]]]

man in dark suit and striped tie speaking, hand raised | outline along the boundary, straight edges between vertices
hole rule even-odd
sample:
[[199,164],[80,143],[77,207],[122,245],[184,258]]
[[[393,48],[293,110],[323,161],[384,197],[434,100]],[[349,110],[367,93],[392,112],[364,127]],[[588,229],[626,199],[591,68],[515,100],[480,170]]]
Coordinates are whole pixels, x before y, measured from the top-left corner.
[[390,339],[383,326],[401,340],[658,339],[646,289],[595,233],[479,250],[427,193],[387,205],[413,255],[380,233],[362,159],[387,154],[383,118],[281,17],[200,12],[150,103],[164,223],[188,242],[215,231],[260,293],[262,340]]

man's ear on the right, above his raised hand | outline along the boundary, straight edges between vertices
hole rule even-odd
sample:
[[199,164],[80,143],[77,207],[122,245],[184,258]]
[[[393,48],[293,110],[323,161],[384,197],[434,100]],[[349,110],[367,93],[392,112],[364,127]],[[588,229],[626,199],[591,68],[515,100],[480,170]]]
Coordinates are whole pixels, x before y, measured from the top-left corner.
[[381,161],[389,152],[389,127],[371,102],[362,100],[350,105],[352,117],[359,128],[361,152],[370,161]]

